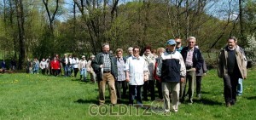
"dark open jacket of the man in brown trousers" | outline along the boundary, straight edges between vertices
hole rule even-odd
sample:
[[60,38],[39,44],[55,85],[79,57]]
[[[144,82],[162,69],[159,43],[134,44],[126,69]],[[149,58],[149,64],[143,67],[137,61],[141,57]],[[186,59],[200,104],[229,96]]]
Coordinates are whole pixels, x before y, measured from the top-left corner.
[[[116,60],[114,59],[112,54],[109,54],[109,58],[111,62],[111,74],[116,79],[118,77]],[[103,53],[101,52],[99,54],[96,54],[95,59],[92,60],[91,62],[91,66],[94,72],[96,73],[98,81],[102,80],[102,69],[100,66],[103,65],[103,61],[104,61],[103,59],[104,59],[104,56],[103,56]]]

